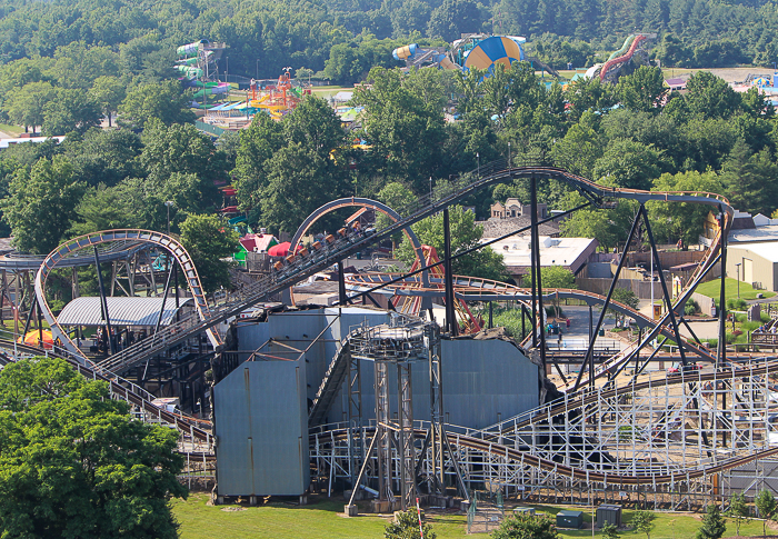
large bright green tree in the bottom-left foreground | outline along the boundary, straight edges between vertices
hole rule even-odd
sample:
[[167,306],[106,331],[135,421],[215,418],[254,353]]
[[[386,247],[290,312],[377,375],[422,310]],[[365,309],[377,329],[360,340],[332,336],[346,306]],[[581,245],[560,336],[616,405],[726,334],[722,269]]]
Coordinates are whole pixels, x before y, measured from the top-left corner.
[[64,360],[0,372],[0,529],[8,537],[176,538],[177,433],[132,420]]

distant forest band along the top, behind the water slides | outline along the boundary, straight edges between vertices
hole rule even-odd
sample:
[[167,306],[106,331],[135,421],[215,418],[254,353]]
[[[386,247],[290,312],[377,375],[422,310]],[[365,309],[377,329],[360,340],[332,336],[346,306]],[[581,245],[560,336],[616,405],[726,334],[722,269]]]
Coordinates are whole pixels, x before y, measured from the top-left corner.
[[99,48],[101,74],[159,77],[171,74],[176,46],[205,38],[230,46],[221,68],[232,73],[271,78],[291,66],[353,82],[391,67],[397,46],[462,32],[525,36],[533,56],[560,68],[590,64],[646,31],[659,33],[654,53],[668,66],[769,66],[776,28],[776,3],[760,0],[6,0],[0,62]]

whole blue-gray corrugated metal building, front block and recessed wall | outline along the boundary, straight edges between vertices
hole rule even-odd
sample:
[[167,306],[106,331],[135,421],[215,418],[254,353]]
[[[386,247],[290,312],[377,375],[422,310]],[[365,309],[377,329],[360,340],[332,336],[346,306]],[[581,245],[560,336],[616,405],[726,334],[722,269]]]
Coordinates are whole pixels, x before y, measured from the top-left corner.
[[[298,449],[296,443],[303,435],[302,439],[307,440],[308,405],[316,397],[337,353],[337,342],[365,321],[377,326],[389,319],[388,312],[376,309],[322,308],[272,313],[265,322],[241,320],[235,326],[239,350],[256,350],[271,338],[306,350],[317,336],[321,335],[321,338],[301,360],[245,361],[216,386],[220,496],[300,495],[305,491],[308,487],[305,482],[308,478],[308,446],[301,443]],[[263,348],[272,353],[276,349]],[[246,352],[246,357],[249,353]],[[296,356],[287,353],[285,358]],[[483,428],[538,405],[539,369],[510,342],[498,339],[443,340],[442,365],[443,403],[449,423]],[[292,383],[290,372],[293,369],[300,377],[299,386]],[[372,366],[363,363],[361,376],[362,402],[366,403],[363,420],[368,421],[375,418]],[[397,409],[397,377],[390,376],[389,380],[391,407]],[[427,361],[412,367],[412,388],[413,418],[429,420]],[[346,399],[341,388],[325,422],[345,419]],[[249,451],[249,445],[253,453]],[[300,455],[301,461],[298,460]],[[251,485],[247,482],[249,477],[253,478]]]

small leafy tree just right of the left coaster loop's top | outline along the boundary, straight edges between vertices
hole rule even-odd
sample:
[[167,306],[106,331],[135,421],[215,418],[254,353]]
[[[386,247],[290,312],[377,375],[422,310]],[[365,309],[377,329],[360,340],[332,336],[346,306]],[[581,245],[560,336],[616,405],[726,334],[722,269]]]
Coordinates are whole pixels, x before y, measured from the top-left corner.
[[230,287],[230,263],[222,259],[240,249],[235,230],[217,216],[189,216],[181,223],[181,243],[192,257],[207,292]]

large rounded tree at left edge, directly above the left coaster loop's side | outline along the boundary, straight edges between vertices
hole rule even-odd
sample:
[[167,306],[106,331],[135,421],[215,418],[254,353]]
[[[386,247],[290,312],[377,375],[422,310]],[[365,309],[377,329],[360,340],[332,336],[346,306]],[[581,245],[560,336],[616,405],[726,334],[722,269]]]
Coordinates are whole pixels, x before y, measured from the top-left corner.
[[41,159],[29,171],[17,171],[9,189],[0,207],[13,244],[22,252],[48,254],[70,228],[83,193],[72,164],[61,156]]

